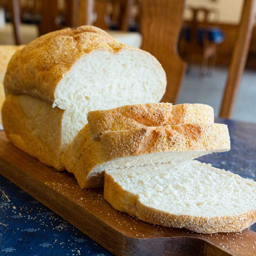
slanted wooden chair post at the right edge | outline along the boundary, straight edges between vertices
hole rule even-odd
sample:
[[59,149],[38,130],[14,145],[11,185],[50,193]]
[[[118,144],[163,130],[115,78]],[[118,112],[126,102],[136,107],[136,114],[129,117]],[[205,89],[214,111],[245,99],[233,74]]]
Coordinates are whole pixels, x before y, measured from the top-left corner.
[[255,2],[255,0],[244,0],[242,18],[236,35],[220,117],[231,118],[233,115],[255,21]]

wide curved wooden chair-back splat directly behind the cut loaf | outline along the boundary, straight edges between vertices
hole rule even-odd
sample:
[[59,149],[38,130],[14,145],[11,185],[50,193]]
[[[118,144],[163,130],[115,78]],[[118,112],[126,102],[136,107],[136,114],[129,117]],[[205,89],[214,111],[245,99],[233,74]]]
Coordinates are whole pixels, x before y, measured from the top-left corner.
[[167,88],[162,102],[175,103],[186,70],[178,54],[183,9],[184,1],[140,1],[141,49],[154,55],[166,72]]

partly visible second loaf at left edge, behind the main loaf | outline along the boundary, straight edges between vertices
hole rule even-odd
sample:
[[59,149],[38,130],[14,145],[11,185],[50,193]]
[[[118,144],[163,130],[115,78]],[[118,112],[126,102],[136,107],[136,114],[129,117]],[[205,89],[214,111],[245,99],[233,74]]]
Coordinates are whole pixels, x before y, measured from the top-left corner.
[[0,127],[2,126],[1,109],[5,100],[4,75],[12,55],[23,47],[24,45],[0,45]]

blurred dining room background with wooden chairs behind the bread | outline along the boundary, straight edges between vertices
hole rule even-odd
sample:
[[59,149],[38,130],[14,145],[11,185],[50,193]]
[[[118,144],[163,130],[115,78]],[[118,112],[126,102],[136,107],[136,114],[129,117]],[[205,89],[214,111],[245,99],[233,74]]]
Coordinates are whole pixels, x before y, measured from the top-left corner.
[[[245,6],[246,2],[251,2],[248,8]],[[163,101],[176,104],[204,103],[214,108],[215,116],[255,123],[254,2],[0,0],[0,44],[28,44],[38,36],[53,30],[76,28],[83,24],[94,25],[107,30],[121,42],[141,47],[156,56],[167,73],[168,88],[177,84],[177,88],[174,86],[175,90],[168,89],[166,93],[173,97],[167,95]],[[178,5],[180,11],[175,11]],[[177,18],[176,13],[180,17]],[[244,19],[249,17],[250,20],[247,19],[247,27],[245,20],[245,27],[241,28],[243,15]],[[243,39],[241,35],[239,39],[241,31],[245,31],[247,37],[243,43],[238,43]],[[236,47],[242,50],[236,50]],[[172,59],[169,52],[173,52],[176,59]],[[242,52],[240,59],[235,60],[234,56],[239,55],[239,52]],[[175,73],[175,68],[178,70],[179,65],[176,63],[180,61],[184,66],[177,78],[177,74],[172,75],[171,72],[174,70]],[[223,105],[223,96],[232,61],[233,72],[239,73],[236,77],[239,83],[235,87],[235,93],[226,91],[228,97],[233,99],[233,105],[230,107]],[[240,69],[238,66],[241,66]],[[236,71],[236,68],[239,71]],[[221,106],[228,111],[230,108],[231,111],[221,115]]]

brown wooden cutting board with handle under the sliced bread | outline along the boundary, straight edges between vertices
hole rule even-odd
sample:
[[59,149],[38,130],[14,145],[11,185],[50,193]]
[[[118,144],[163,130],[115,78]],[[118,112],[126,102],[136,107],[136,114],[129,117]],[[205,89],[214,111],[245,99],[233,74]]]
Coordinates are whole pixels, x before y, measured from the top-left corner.
[[110,252],[120,256],[256,255],[256,233],[199,234],[148,224],[114,210],[102,188],[80,189],[74,176],[28,156],[0,132],[0,173]]

